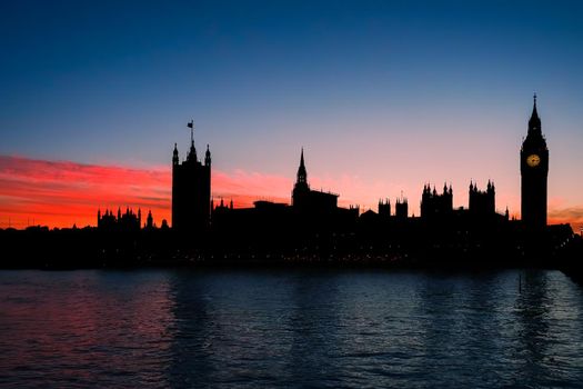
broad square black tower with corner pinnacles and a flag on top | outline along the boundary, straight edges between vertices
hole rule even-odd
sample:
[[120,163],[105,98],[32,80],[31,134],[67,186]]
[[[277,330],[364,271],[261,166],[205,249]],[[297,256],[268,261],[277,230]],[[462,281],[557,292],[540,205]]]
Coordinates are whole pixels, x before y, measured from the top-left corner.
[[178,147],[172,153],[172,229],[181,232],[203,231],[211,215],[211,152],[207,144],[204,164],[197,158],[191,121],[190,150],[180,163]]

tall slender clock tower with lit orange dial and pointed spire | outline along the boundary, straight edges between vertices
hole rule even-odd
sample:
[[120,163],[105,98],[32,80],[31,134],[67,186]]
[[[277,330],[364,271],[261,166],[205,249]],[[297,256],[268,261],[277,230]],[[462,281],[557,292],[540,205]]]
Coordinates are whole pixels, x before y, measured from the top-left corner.
[[549,176],[549,149],[536,112],[536,94],[529,120],[529,133],[520,151],[521,215],[529,228],[546,226],[546,178]]

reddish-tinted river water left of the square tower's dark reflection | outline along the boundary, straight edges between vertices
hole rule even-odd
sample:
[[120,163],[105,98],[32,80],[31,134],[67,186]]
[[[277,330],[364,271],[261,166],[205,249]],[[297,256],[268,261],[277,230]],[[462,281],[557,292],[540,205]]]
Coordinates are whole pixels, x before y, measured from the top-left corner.
[[172,321],[163,275],[13,271],[0,279],[0,383],[162,382]]

